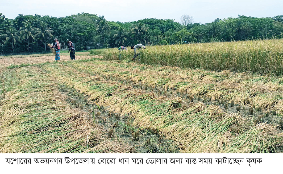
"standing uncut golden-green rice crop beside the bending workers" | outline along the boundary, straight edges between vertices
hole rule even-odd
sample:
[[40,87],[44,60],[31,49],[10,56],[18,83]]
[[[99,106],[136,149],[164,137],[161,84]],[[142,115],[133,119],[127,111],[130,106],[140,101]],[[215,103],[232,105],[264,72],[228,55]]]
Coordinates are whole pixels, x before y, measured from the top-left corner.
[[[142,63],[181,68],[231,70],[283,74],[283,39],[147,46],[140,50]],[[92,50],[106,60],[119,60],[117,48]],[[123,59],[131,59],[133,50],[121,52]]]

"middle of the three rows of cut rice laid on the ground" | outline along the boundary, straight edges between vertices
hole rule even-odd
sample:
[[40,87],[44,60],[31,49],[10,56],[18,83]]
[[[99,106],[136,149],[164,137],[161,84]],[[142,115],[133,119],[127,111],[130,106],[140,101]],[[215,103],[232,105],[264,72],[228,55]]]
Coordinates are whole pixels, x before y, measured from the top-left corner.
[[[183,153],[272,153],[283,143],[281,131],[266,123],[262,124],[267,126],[250,131],[247,136],[246,131],[256,126],[235,113],[227,115],[218,106],[197,103],[183,108],[185,100],[180,97],[158,96],[63,65],[46,65],[44,68],[60,83],[89,95],[89,100],[99,100],[98,105],[109,106],[121,115],[131,113],[135,118],[133,126],[154,130],[165,139],[173,139]],[[271,135],[272,140],[266,138]],[[235,145],[237,142],[245,143],[238,146]]]

